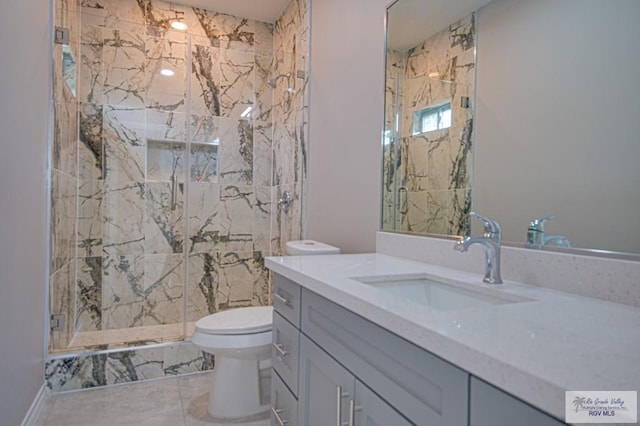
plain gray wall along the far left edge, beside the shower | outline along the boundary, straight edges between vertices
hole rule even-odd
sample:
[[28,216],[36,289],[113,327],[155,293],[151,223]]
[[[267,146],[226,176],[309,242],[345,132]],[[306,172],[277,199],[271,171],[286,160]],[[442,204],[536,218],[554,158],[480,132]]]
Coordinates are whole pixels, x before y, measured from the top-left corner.
[[0,413],[18,425],[43,383],[49,2],[0,3]]

